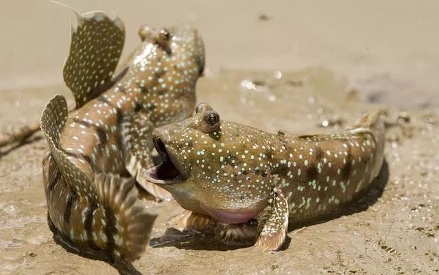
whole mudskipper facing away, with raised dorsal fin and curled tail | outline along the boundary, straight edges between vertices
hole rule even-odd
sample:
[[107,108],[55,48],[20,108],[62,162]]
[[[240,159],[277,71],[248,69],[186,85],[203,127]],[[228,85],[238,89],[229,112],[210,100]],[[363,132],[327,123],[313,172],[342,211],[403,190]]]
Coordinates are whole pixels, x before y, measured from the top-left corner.
[[49,145],[43,160],[49,224],[77,248],[132,261],[155,218],[137,198],[135,180],[168,196],[139,177],[139,167],[153,166],[152,130],[191,115],[204,49],[191,29],[143,27],[141,45],[115,74],[123,23],[104,12],[75,14],[64,81],[76,108],[69,112],[56,95],[41,117]]

